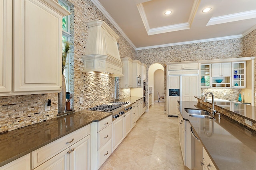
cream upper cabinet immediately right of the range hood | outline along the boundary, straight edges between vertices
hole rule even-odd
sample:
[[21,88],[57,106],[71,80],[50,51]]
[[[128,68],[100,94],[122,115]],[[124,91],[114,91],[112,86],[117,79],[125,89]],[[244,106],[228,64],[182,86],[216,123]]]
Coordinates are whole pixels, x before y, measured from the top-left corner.
[[132,59],[129,57],[121,58],[121,62],[124,63],[122,68],[122,76],[120,79],[120,88],[132,88]]

